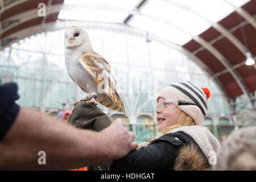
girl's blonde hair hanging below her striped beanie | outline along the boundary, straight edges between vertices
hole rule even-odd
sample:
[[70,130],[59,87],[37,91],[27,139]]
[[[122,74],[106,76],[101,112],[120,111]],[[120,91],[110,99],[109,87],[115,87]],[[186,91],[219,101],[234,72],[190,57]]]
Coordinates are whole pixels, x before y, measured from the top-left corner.
[[193,126],[196,125],[195,121],[193,118],[191,118],[187,113],[182,112],[180,114],[180,118],[177,122],[176,125],[172,125],[169,127],[165,127],[162,131],[160,131],[159,134],[155,135],[155,137],[153,137],[152,140],[157,139],[159,137],[162,137],[163,135],[167,134],[168,131],[172,130],[172,129],[176,129],[177,127],[181,127],[181,126]]

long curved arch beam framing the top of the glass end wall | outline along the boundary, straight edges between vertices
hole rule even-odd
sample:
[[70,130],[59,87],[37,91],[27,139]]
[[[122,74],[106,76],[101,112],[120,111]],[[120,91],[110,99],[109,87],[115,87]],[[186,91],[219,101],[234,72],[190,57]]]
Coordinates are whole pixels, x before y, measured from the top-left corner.
[[[166,40],[163,38],[160,38],[159,36],[156,36],[154,34],[148,34],[146,31],[139,30],[138,28],[126,26],[124,24],[115,24],[115,23],[102,23],[102,22],[88,22],[88,21],[63,21],[63,22],[53,22],[53,23],[46,23],[45,26],[42,28],[41,25],[33,26],[29,28],[25,28],[24,30],[20,30],[19,32],[15,32],[14,34],[11,34],[7,36],[5,39],[10,39],[11,41],[9,44],[7,44],[5,47],[10,46],[11,44],[18,42],[19,40],[22,40],[24,38],[27,38],[31,35],[36,35],[41,32],[45,31],[54,31],[54,30],[61,30],[70,26],[73,26],[76,24],[77,26],[82,26],[85,28],[101,28],[104,30],[114,31],[114,32],[125,32],[129,35],[133,36],[141,36],[143,38],[148,38],[150,40],[155,40],[156,42],[162,43],[170,48],[176,49],[180,53],[183,53],[186,55],[189,59],[193,60],[200,68],[203,69],[203,71],[209,76],[209,78],[212,78],[213,82],[217,85],[218,89],[220,90],[222,97],[224,98],[226,105],[229,107],[230,114],[233,114],[234,111],[232,111],[232,107],[230,106],[229,102],[229,96],[228,93],[226,93],[226,90],[222,86],[220,80],[218,78],[213,77],[214,74],[212,71],[201,61],[198,57],[193,55],[191,52],[187,51],[187,49],[181,47],[179,44],[176,44],[174,42],[171,42],[170,40]],[[16,39],[13,39],[15,38]]]

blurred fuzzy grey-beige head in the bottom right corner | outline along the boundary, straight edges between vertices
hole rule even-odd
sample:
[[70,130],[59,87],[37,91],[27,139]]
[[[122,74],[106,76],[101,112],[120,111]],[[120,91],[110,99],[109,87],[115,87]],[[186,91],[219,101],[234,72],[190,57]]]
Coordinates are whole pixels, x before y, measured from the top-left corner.
[[256,171],[256,127],[233,131],[217,153],[216,171]]

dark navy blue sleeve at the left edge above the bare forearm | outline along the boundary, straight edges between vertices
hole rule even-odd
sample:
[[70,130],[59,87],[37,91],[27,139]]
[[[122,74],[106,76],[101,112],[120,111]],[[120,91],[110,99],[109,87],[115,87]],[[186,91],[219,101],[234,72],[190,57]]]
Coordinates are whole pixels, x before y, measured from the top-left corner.
[[0,141],[5,137],[13,125],[18,113],[18,85],[14,82],[0,86]]

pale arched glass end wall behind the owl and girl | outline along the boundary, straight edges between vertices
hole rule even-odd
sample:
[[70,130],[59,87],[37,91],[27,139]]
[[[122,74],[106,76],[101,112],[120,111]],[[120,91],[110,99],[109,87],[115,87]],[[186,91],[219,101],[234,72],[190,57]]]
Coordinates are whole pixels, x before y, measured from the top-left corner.
[[[118,93],[128,113],[154,114],[156,95],[150,97],[151,93],[158,93],[172,82],[191,80],[200,87],[210,88],[213,99],[209,101],[209,115],[228,115],[228,107],[220,104],[224,98],[212,79],[176,49],[154,41],[147,43],[139,36],[99,29],[87,31],[94,51],[104,56],[111,65]],[[10,77],[18,83],[19,105],[40,108],[43,81],[47,109],[62,108],[63,103],[68,109],[73,107],[74,101],[86,96],[68,76],[63,35],[64,30],[43,32],[20,40],[0,52],[3,60],[0,61],[0,80],[6,81],[6,77]],[[153,81],[157,85],[152,85]]]

